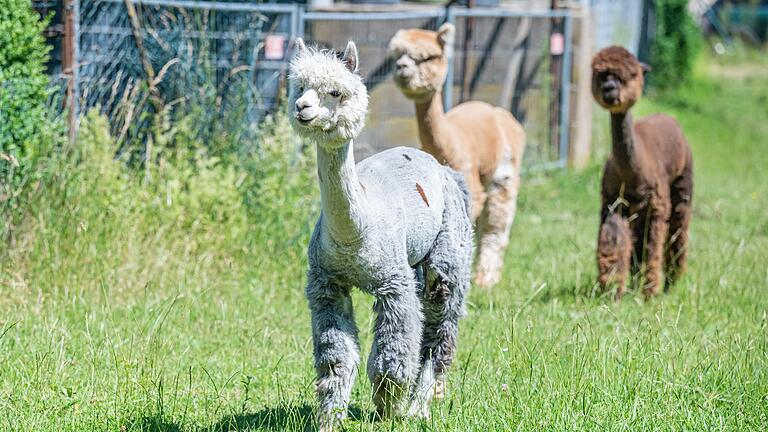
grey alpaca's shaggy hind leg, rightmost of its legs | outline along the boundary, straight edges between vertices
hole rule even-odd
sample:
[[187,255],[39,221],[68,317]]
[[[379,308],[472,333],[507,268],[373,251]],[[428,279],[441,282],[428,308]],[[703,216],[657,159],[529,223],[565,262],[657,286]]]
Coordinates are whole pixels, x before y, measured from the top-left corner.
[[409,414],[424,418],[429,417],[432,398],[444,396],[445,375],[456,353],[459,319],[464,315],[470,286],[472,227],[469,218],[461,214],[466,214],[466,209],[456,204],[446,211],[443,229],[425,263],[421,370],[409,409]]

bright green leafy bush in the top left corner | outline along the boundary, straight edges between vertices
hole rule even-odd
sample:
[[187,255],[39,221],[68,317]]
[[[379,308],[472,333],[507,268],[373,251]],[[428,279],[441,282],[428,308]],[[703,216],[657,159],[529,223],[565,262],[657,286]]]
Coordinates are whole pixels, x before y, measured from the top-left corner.
[[30,0],[4,0],[0,7],[0,151],[8,158],[34,157],[49,124],[46,25]]

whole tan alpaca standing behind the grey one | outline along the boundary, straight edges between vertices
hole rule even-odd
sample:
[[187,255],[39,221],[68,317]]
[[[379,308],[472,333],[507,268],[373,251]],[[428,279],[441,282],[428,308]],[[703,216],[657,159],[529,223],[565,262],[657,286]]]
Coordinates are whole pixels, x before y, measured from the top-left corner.
[[442,88],[454,33],[452,24],[437,32],[400,30],[389,50],[397,67],[395,84],[416,104],[422,149],[467,180],[478,227],[475,283],[492,286],[501,278],[515,217],[525,133],[512,114],[484,102],[445,112]]

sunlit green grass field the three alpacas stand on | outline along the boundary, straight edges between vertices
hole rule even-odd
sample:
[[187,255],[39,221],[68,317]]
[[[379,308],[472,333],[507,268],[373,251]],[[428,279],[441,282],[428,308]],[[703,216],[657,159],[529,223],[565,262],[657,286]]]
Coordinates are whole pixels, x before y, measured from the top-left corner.
[[[430,421],[375,423],[361,370],[347,430],[768,430],[768,75],[735,68],[705,61],[636,109],[677,116],[694,151],[679,285],[649,302],[595,292],[599,161],[526,178],[504,280],[470,296],[447,398]],[[61,204],[0,254],[0,429],[311,427],[315,190],[274,211],[219,214],[239,198],[215,194],[157,215],[165,201],[123,204],[131,186],[100,166],[81,190],[52,190]],[[355,305],[367,354],[371,299]]]

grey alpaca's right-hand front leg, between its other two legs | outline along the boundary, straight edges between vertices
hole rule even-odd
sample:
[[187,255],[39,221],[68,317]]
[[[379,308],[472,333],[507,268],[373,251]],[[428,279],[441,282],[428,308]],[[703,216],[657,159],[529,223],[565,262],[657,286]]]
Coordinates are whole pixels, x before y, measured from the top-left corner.
[[423,317],[413,270],[376,291],[374,340],[368,358],[373,402],[381,418],[403,415],[405,396],[419,369]]

